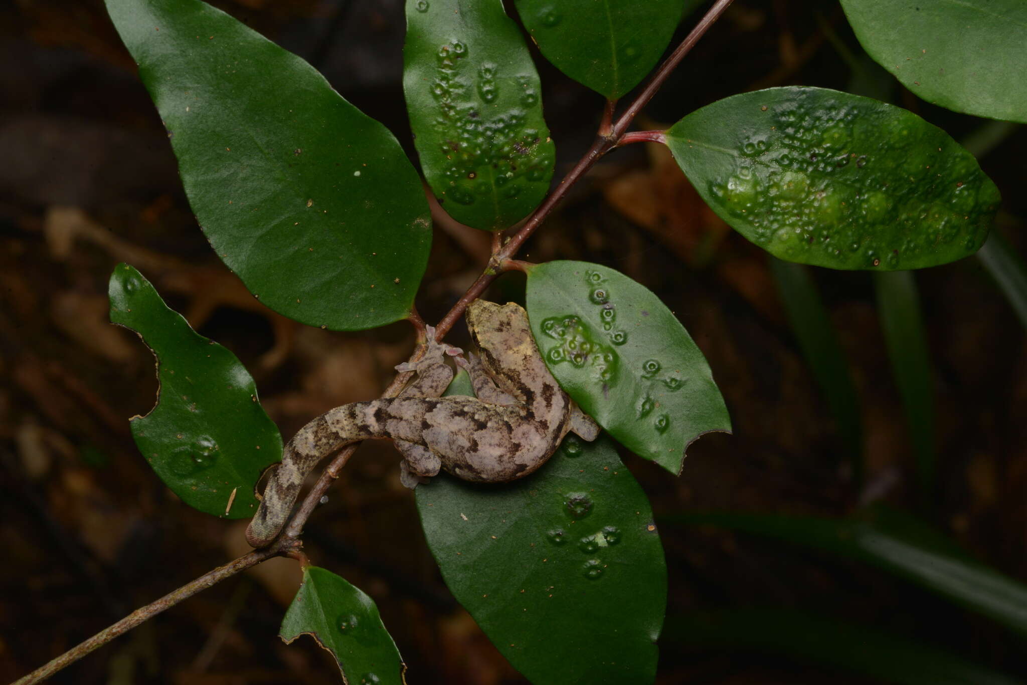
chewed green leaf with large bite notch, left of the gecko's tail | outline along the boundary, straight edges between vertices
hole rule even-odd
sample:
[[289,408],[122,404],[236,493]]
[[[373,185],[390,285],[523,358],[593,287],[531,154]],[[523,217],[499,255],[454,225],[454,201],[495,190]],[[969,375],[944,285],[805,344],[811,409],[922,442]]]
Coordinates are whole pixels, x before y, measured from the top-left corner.
[[111,322],[131,329],[157,357],[157,404],[131,418],[131,434],[160,480],[200,511],[254,515],[254,486],[281,458],[278,428],[257,386],[227,349],[195,333],[143,275],[118,264]]

